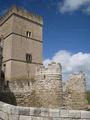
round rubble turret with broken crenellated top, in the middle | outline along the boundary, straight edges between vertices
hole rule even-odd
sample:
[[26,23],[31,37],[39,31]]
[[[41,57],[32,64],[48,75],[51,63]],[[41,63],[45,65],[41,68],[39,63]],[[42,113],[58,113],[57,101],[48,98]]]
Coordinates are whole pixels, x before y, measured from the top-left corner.
[[39,105],[46,108],[62,107],[62,67],[59,63],[52,62],[47,68],[44,66],[37,68],[35,93]]

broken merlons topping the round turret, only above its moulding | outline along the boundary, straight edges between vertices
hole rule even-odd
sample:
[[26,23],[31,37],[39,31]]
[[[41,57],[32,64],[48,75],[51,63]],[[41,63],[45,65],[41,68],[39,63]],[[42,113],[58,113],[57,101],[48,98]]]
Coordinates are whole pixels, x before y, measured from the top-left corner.
[[48,67],[39,66],[36,69],[36,75],[61,75],[62,74],[62,67],[59,63],[52,62],[48,64]]

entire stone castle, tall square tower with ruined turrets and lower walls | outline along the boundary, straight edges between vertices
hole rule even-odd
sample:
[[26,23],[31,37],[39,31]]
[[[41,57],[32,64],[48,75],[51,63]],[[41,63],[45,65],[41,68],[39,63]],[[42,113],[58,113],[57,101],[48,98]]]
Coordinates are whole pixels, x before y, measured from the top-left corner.
[[42,26],[41,17],[15,6],[0,19],[0,101],[25,107],[87,109],[82,72],[63,82],[59,63],[42,65]]

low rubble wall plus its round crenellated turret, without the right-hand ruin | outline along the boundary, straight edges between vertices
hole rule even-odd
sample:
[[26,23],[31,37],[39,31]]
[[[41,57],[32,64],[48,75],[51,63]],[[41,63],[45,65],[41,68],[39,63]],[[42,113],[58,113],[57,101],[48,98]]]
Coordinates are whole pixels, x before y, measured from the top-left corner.
[[[0,100],[9,104],[28,107],[62,106],[62,75],[59,64],[48,68],[39,67],[36,78],[31,80],[5,81],[0,91]],[[6,86],[8,83],[8,86]]]

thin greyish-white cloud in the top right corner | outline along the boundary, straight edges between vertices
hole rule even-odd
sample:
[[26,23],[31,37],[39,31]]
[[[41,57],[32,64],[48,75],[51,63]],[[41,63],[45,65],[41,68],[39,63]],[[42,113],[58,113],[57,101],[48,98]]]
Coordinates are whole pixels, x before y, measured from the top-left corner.
[[59,3],[59,11],[61,13],[65,12],[73,12],[78,9],[87,9],[90,6],[90,0],[63,0],[63,2]]

